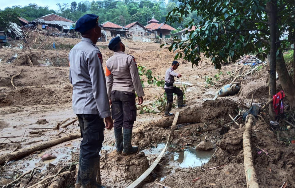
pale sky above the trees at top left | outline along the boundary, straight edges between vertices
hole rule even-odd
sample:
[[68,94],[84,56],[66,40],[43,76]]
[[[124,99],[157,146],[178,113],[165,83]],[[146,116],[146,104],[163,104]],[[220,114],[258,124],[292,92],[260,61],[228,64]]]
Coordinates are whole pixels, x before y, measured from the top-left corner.
[[27,6],[29,3],[35,3],[39,6],[49,6],[49,9],[58,10],[57,3],[69,3],[71,2],[81,2],[82,0],[50,0],[50,1],[44,1],[44,0],[0,0],[0,9],[3,10],[6,7],[11,7],[14,5],[20,5],[20,6]]

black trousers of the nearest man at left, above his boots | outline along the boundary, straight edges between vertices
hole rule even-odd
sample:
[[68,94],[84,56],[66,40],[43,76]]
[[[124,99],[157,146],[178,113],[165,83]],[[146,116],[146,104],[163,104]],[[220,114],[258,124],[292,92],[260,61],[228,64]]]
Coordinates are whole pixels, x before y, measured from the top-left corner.
[[95,159],[104,141],[104,119],[94,114],[76,114],[78,116],[81,137],[80,152],[83,159]]

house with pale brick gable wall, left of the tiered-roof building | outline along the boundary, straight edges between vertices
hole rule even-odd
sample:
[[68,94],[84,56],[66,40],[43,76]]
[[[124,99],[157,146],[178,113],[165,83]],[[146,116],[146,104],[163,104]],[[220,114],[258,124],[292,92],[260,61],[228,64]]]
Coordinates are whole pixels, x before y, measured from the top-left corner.
[[152,37],[155,38],[155,32],[145,28],[139,22],[133,22],[124,26],[124,29],[127,31],[126,34],[130,37],[132,36],[133,40],[142,41],[142,37]]

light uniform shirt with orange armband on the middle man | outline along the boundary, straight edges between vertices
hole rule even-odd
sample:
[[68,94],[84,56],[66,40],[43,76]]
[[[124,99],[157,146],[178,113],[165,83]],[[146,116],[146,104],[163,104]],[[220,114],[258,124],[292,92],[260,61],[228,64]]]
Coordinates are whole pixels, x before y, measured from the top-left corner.
[[124,52],[115,52],[108,58],[106,80],[109,99],[111,91],[136,92],[137,96],[144,96],[135,59]]

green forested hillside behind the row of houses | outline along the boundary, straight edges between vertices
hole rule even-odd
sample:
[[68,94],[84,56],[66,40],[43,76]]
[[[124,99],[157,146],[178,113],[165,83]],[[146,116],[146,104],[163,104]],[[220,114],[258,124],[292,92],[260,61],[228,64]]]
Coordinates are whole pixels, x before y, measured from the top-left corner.
[[[58,14],[62,17],[76,21],[84,14],[96,14],[99,16],[100,22],[114,22],[119,25],[126,25],[131,22],[140,22],[147,25],[148,20],[155,16],[159,22],[165,22],[167,13],[179,5],[177,0],[169,0],[167,5],[165,0],[85,0],[77,3],[57,3],[58,10],[49,10],[48,6],[42,7],[37,4],[29,4],[28,6],[13,6],[16,12],[22,18],[32,21],[47,14]],[[196,16],[191,14],[189,17]],[[184,23],[173,23],[172,27],[184,27],[189,18],[183,17]],[[195,18],[194,18],[195,19]]]

